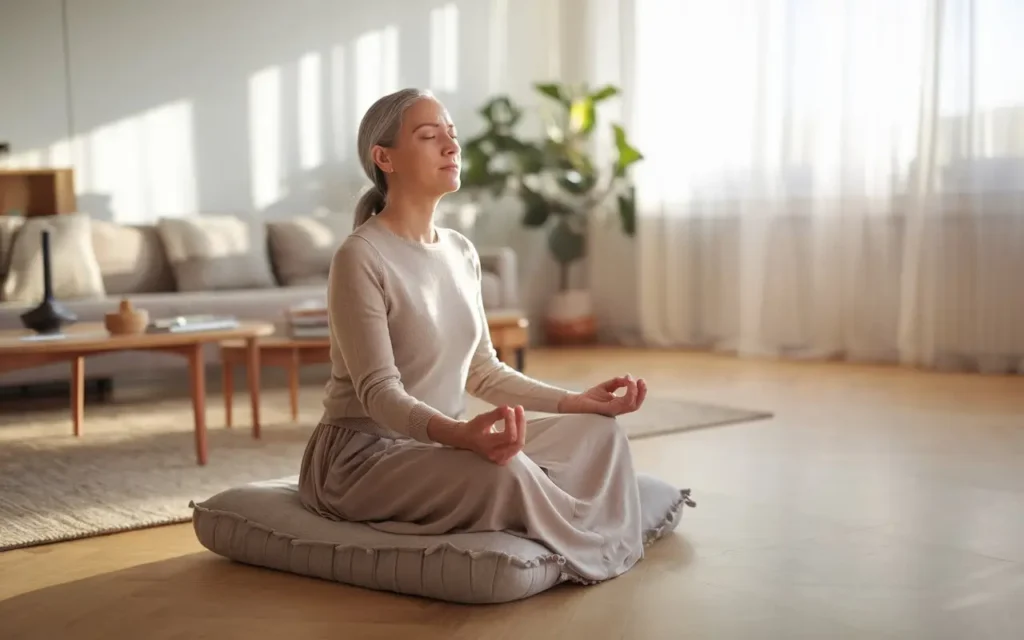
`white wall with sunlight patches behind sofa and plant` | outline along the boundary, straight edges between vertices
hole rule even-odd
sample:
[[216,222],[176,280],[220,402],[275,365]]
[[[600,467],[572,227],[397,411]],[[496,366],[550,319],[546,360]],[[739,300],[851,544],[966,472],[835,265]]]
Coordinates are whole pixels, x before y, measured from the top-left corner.
[[[346,210],[365,184],[358,118],[381,93],[432,88],[468,135],[495,92],[536,102],[534,82],[591,73],[588,0],[371,4],[69,0],[66,67],[60,0],[0,0],[0,86],[17,88],[0,99],[4,164],[74,166],[80,208],[122,222]],[[498,207],[473,236],[516,249],[540,321],[557,286],[544,233]]]

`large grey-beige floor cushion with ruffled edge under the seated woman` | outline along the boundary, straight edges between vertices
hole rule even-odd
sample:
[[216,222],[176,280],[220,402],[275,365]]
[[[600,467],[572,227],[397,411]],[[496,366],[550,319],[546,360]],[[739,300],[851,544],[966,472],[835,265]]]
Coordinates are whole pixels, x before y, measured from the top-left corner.
[[[689,492],[640,475],[645,544],[675,529]],[[200,543],[231,560],[379,591],[462,603],[509,602],[564,582],[563,559],[505,532],[401,536],[303,508],[298,477],[193,503]]]

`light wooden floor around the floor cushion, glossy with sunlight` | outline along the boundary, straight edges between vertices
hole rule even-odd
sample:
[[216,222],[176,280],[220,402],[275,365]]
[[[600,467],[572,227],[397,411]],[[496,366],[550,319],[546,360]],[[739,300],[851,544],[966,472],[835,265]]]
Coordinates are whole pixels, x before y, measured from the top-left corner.
[[232,564],[169,526],[0,554],[0,638],[1024,637],[1024,379],[617,349],[527,367],[776,417],[634,442],[698,507],[603,585],[447,605]]

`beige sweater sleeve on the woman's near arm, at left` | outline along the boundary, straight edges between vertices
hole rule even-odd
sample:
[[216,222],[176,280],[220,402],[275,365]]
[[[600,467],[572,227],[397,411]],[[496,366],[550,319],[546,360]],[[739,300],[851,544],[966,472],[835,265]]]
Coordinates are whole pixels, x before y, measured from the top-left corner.
[[365,240],[351,238],[331,263],[332,339],[367,415],[392,431],[431,442],[427,423],[443,414],[410,395],[402,385],[388,329],[387,297],[380,254]]

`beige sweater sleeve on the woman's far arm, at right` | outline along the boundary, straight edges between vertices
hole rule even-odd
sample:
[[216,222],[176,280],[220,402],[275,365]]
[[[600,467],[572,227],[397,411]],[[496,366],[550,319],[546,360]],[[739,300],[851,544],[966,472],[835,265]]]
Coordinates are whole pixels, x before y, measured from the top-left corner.
[[[475,249],[471,256],[475,261],[477,281],[482,276],[479,256]],[[566,389],[535,380],[505,362],[498,359],[498,353],[490,342],[487,331],[486,311],[483,307],[483,297],[477,288],[476,308],[483,331],[473,351],[470,361],[469,376],[466,381],[466,391],[492,404],[521,404],[526,411],[537,411],[549,414],[558,413],[558,404],[571,393]]]

